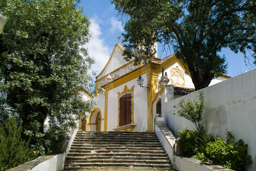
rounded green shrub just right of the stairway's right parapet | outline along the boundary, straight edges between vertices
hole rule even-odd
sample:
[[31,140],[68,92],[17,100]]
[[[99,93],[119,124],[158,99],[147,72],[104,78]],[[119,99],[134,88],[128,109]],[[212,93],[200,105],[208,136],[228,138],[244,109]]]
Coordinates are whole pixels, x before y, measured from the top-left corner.
[[198,133],[193,129],[186,128],[184,131],[178,131],[180,139],[178,144],[181,153],[184,156],[193,156],[196,154]]

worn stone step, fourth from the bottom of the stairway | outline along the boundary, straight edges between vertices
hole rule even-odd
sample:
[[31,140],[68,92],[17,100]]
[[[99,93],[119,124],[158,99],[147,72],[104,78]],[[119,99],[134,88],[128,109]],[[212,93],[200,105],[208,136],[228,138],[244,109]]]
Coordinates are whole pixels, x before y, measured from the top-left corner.
[[160,154],[152,154],[152,153],[68,153],[68,157],[87,157],[87,156],[134,156],[134,157],[167,157],[167,154],[160,153]]

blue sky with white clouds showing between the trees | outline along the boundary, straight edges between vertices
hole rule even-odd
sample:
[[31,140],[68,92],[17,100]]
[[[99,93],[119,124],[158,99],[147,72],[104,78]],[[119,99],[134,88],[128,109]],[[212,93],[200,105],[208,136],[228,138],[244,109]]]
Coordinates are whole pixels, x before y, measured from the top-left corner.
[[[124,32],[124,24],[117,21],[120,18],[116,17],[117,11],[110,0],[82,0],[80,6],[84,6],[85,14],[91,19],[93,37],[84,47],[88,48],[89,54],[96,59],[92,70],[98,75],[108,62],[115,44],[118,43],[117,37]],[[173,53],[173,51],[167,54],[163,52],[161,55],[161,50],[162,47],[158,44],[158,58],[164,58]],[[235,54],[229,49],[223,49],[219,54],[221,56],[225,54],[229,76],[233,77],[253,69],[245,66],[244,56],[240,52]]]

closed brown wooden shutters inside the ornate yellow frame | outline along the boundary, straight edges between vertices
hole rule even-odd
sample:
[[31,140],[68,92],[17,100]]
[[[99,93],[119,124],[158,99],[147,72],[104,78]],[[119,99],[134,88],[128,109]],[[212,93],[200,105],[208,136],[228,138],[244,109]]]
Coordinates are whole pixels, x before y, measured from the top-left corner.
[[125,94],[119,99],[119,127],[132,123],[132,94]]

